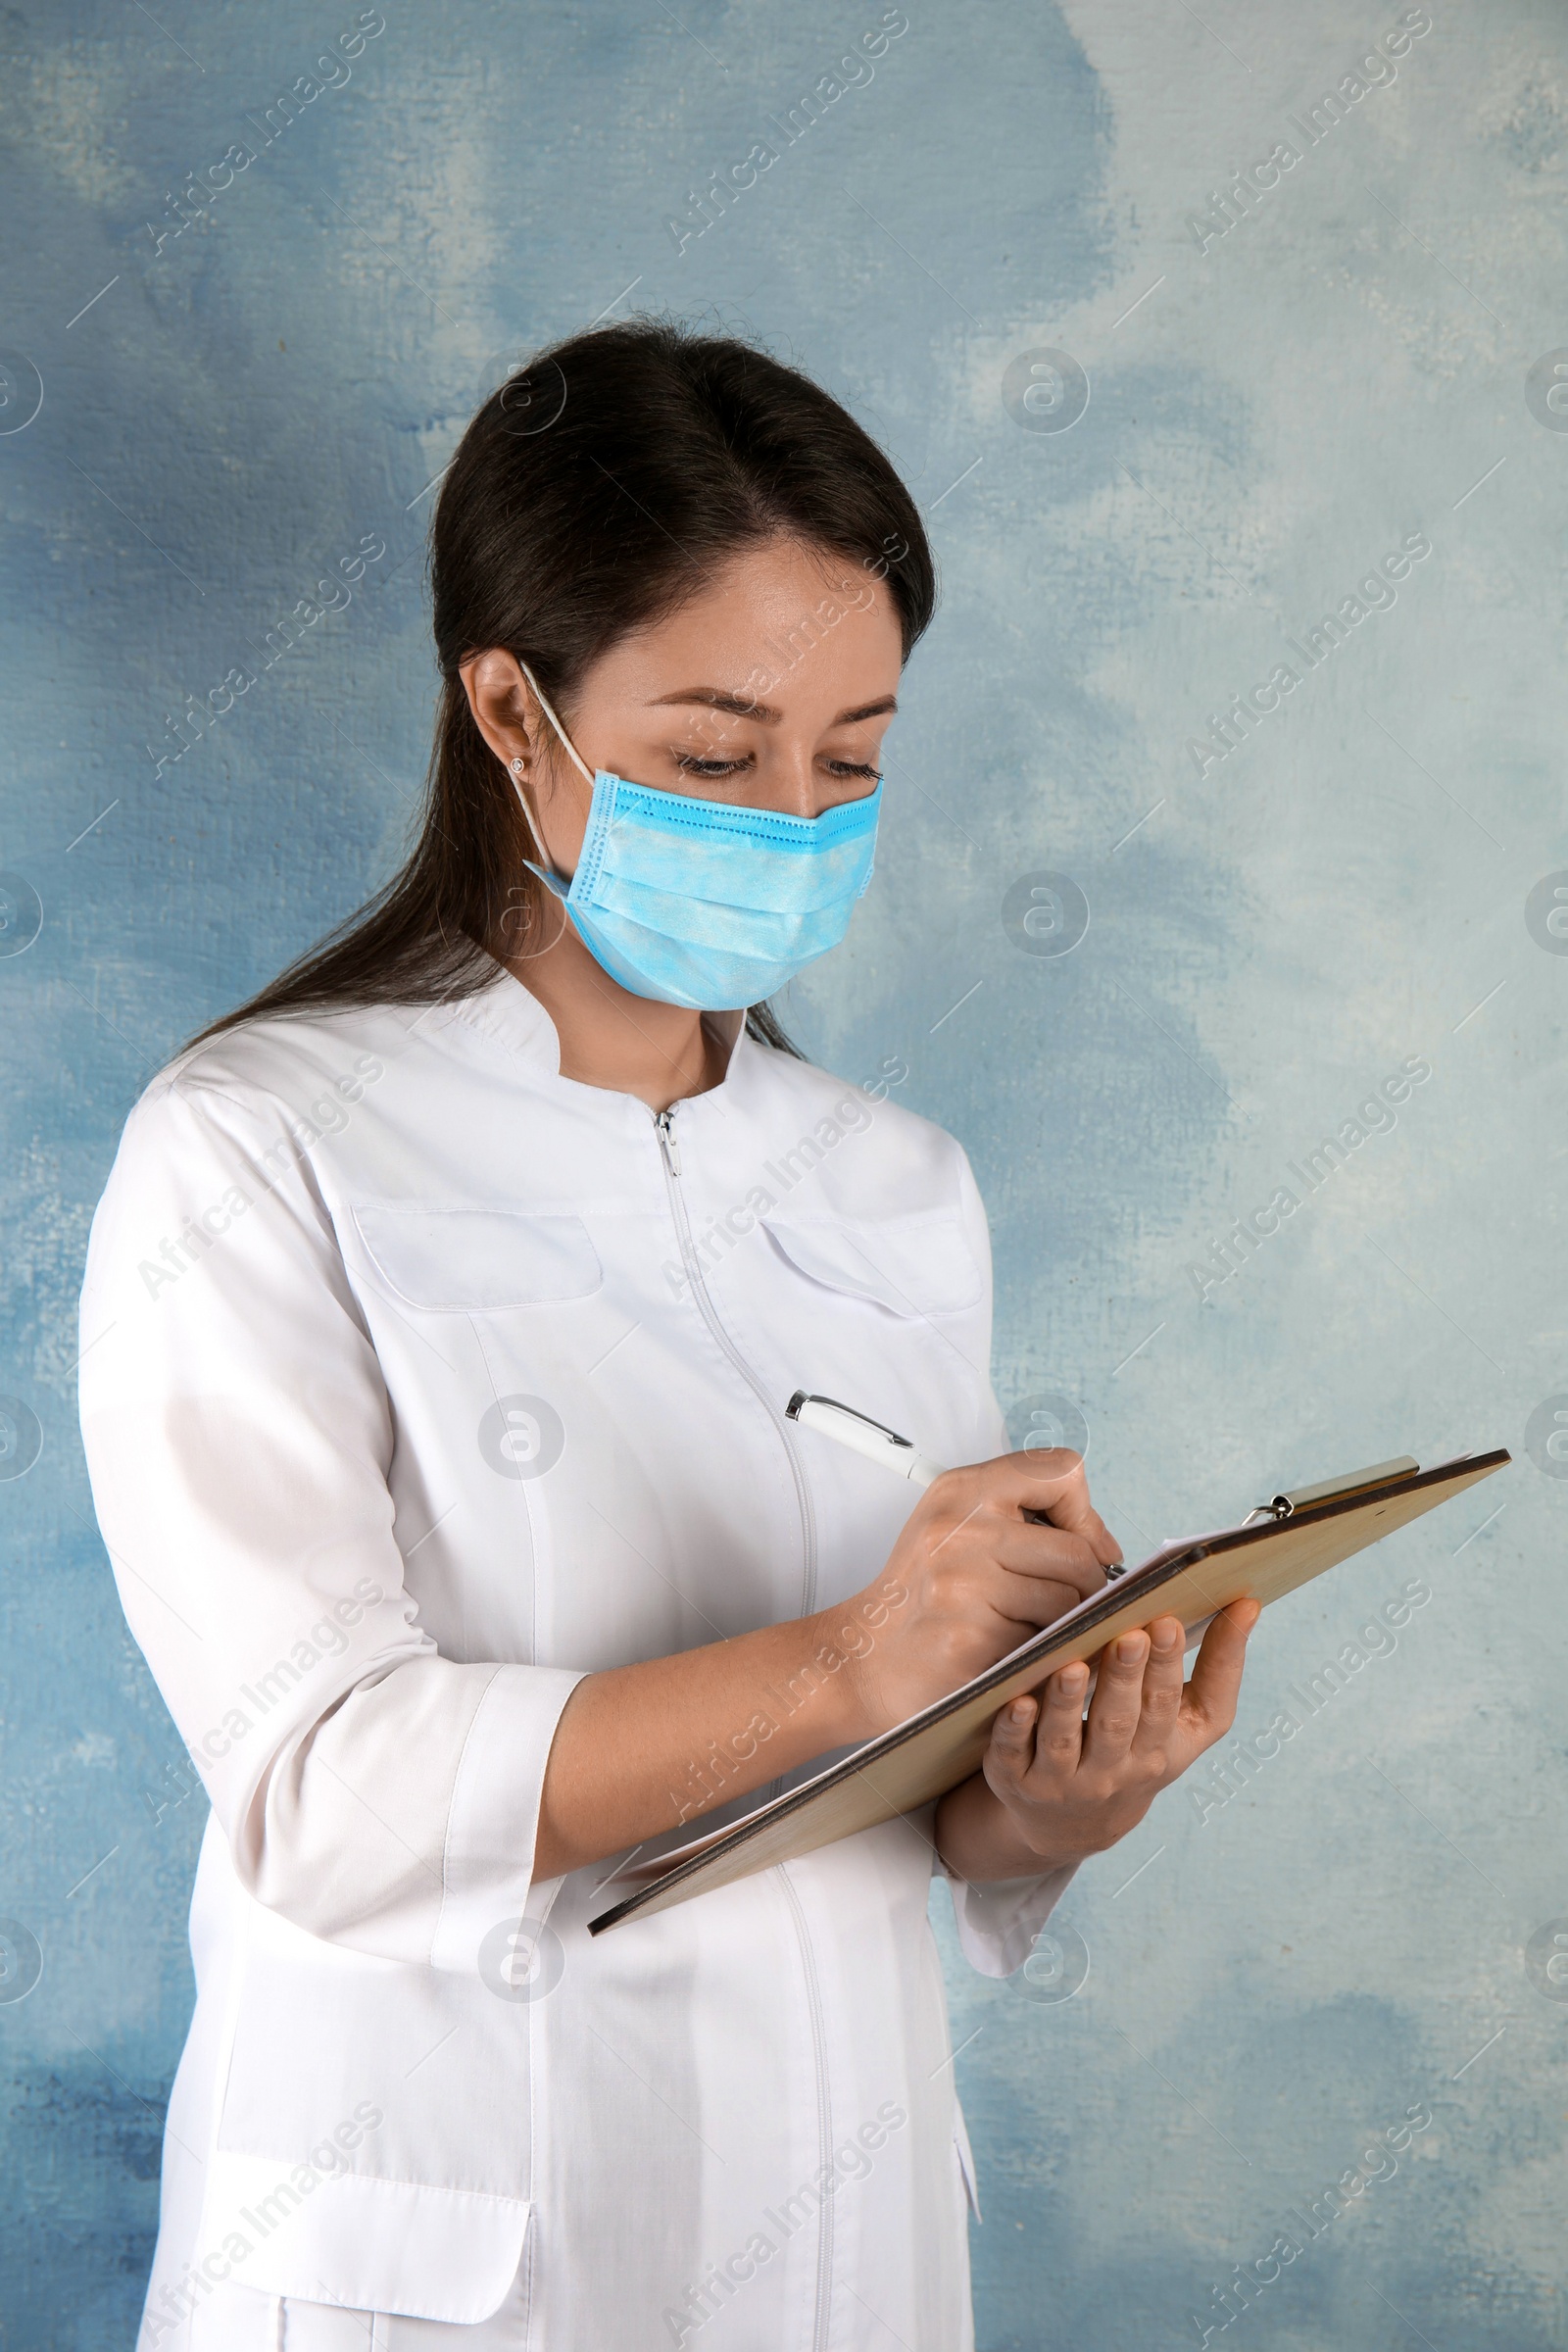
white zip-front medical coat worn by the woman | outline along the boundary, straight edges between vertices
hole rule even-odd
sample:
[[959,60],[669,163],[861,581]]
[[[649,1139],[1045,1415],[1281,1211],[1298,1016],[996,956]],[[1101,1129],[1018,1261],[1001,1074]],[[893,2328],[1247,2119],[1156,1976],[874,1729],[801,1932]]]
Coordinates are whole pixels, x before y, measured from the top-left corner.
[[[254,1023],[132,1112],[82,1432],[212,1797],[143,2345],[508,2296],[531,2352],[971,2343],[929,1811],[597,1938],[611,1863],[531,1879],[581,1675],[884,1564],[910,1489],[795,1388],[1006,1449],[969,1162],[879,1091],[741,1033],[658,1122],[498,971]],[[1065,1877],[954,1884],[971,1959]]]

